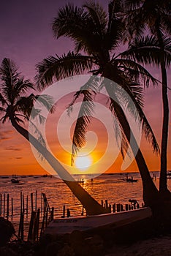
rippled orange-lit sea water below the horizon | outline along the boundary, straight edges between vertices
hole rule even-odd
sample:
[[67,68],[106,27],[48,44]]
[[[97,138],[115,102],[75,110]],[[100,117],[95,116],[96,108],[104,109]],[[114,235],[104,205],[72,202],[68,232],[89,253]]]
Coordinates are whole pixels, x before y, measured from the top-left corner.
[[[156,172],[156,186],[159,187],[159,173]],[[153,173],[151,173],[153,175]],[[137,179],[137,182],[129,183],[126,182],[125,173],[115,173],[115,174],[104,174],[97,178],[94,178],[94,181],[86,181],[84,184],[81,184],[84,189],[88,191],[99,203],[101,200],[108,200],[108,203],[129,203],[129,199],[136,199],[140,204],[142,203],[142,181],[139,173],[129,173],[129,177],[134,177]],[[66,187],[63,181],[58,178],[50,176],[31,176],[26,178],[21,178],[19,184],[12,184],[9,178],[1,178],[0,176],[0,194],[9,193],[9,214],[11,214],[11,198],[13,198],[14,204],[14,215],[9,217],[14,225],[18,224],[20,216],[20,192],[23,192],[25,203],[26,196],[28,195],[28,212],[31,212],[31,200],[30,194],[34,193],[34,207],[35,207],[35,192],[37,190],[37,208],[41,208],[41,193],[44,192],[47,196],[48,203],[50,207],[55,208],[55,217],[61,217],[62,208],[65,205],[66,208],[69,208],[71,215],[80,215],[82,212],[82,206],[77,198],[72,195],[72,192]],[[78,180],[78,177],[75,177],[75,180]],[[171,180],[168,180],[169,188],[171,189]],[[26,206],[25,206],[26,207]],[[3,208],[3,207],[2,207]],[[27,218],[27,217],[25,217]],[[28,216],[29,219],[29,216]],[[27,219],[26,219],[27,221]]]

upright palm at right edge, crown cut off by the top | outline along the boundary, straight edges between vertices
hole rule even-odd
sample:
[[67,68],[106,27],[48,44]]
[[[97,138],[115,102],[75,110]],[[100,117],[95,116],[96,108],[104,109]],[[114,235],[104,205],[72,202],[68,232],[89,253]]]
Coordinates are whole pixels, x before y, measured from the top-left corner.
[[[170,15],[170,1],[150,1],[150,0],[135,0],[129,1],[124,0],[123,6],[126,10],[126,20],[129,25],[128,31],[131,34],[131,37],[138,38],[142,37],[142,34],[148,28],[151,31],[151,34],[156,37],[153,39],[153,42],[156,40],[156,46],[160,49],[158,54],[160,59],[156,56],[154,60],[151,60],[151,55],[147,56],[145,54],[146,63],[156,63],[161,67],[161,78],[162,78],[162,102],[163,102],[163,124],[162,124],[162,137],[161,137],[161,172],[160,172],[160,181],[159,181],[159,191],[162,194],[168,194],[167,189],[167,141],[168,141],[168,127],[169,127],[169,103],[167,97],[167,66],[170,64],[168,61],[168,52],[167,52],[167,61],[165,59],[166,53],[164,53],[167,41],[168,50],[168,39],[165,34],[171,34],[171,15]],[[149,48],[149,42],[151,39],[146,37],[147,40],[140,38],[138,45],[139,51],[145,51]],[[170,49],[169,49],[170,50]],[[138,53],[139,54],[139,53]],[[153,55],[152,55],[153,56]],[[155,62],[156,61],[156,62]],[[170,193],[169,193],[170,194]]]

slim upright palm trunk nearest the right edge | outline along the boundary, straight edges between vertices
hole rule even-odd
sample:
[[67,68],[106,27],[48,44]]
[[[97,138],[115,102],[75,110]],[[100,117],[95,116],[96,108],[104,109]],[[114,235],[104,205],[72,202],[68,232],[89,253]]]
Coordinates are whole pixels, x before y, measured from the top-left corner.
[[168,192],[167,189],[167,141],[169,128],[169,102],[167,96],[167,71],[164,59],[164,45],[161,37],[161,31],[156,23],[156,32],[161,47],[161,77],[162,77],[162,104],[163,104],[163,124],[161,137],[161,163],[160,163],[160,181],[159,192]]

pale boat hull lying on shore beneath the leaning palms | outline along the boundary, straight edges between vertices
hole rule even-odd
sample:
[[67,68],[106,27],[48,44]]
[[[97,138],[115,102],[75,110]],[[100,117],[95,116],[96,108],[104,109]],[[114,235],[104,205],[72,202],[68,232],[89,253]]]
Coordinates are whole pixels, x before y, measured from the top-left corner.
[[86,231],[107,226],[120,227],[151,216],[151,208],[144,207],[112,214],[58,218],[50,222],[44,233],[64,235],[74,230]]

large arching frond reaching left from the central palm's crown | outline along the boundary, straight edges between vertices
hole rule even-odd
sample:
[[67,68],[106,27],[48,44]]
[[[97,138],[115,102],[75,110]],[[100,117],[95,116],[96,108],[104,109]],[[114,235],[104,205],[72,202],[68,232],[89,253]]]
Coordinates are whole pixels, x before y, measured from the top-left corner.
[[89,56],[82,56],[79,53],[69,52],[59,57],[50,56],[37,64],[36,82],[39,89],[73,75],[80,75],[90,70],[93,59]]

